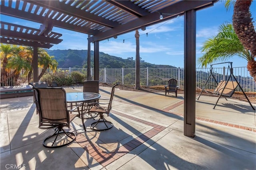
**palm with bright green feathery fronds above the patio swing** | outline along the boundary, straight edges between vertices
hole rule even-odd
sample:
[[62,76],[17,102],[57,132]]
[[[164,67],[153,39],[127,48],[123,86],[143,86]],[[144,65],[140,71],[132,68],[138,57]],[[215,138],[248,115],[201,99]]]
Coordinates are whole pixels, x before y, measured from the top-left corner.
[[[204,52],[204,55],[198,58],[197,64],[205,67],[207,64],[216,61],[226,61],[235,55],[246,59],[248,64],[255,62],[250,51],[245,49],[239,41],[231,23],[223,23],[220,25],[218,34],[215,37],[207,39],[200,50]],[[256,75],[251,72],[250,75],[255,81]]]

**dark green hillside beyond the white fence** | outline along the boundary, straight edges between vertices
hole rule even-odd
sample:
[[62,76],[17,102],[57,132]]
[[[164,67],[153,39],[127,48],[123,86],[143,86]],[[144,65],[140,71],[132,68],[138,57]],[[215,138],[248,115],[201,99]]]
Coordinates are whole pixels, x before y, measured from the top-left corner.
[[[87,67],[87,50],[46,50],[50,56],[58,62],[58,68],[86,68]],[[100,52],[100,68],[135,68],[135,57],[122,59]],[[91,51],[91,66],[94,66],[94,51]],[[140,62],[140,68],[175,68],[170,65],[157,65]]]

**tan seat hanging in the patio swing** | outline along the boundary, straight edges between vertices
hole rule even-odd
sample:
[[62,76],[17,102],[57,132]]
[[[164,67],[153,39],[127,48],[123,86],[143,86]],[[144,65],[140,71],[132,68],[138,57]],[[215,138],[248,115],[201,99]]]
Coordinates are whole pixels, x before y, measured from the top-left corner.
[[[225,84],[227,83],[226,87],[224,88]],[[219,82],[218,86],[214,89],[214,92],[216,92],[217,94],[220,94],[222,92],[222,95],[227,96],[227,97],[231,97],[234,92],[236,91],[236,88],[238,86],[238,83],[236,81],[225,81],[222,80]]]

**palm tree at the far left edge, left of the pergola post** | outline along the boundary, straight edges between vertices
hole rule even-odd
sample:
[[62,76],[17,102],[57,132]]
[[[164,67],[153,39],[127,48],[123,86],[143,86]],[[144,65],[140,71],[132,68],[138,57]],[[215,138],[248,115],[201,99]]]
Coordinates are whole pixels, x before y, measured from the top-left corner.
[[12,52],[14,51],[15,47],[12,47],[9,44],[1,44],[0,45],[0,51],[1,51],[1,65],[2,65],[2,71],[1,71],[1,83],[3,82],[4,86],[8,86],[7,82],[7,71],[6,71],[6,65],[8,63],[8,57],[12,55]]

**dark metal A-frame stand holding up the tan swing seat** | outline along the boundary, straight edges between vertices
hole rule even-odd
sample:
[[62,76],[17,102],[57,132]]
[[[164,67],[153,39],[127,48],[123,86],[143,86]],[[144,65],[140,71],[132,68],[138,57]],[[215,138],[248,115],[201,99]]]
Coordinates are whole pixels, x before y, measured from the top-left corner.
[[[223,94],[223,92],[224,92],[224,90],[225,90],[225,88],[226,88],[226,86],[227,86],[229,80],[232,80],[232,82],[235,80],[235,82],[237,83],[237,86],[238,86],[238,87],[240,88],[240,90],[243,92],[243,94],[244,94],[245,98],[247,99],[248,103],[250,104],[250,106],[252,107],[252,109],[255,110],[255,108],[252,106],[250,100],[248,99],[248,97],[247,97],[246,94],[244,93],[244,90],[242,89],[242,87],[240,86],[239,82],[236,80],[236,77],[235,77],[234,74],[233,74],[232,62],[225,62],[225,63],[229,63],[229,65],[228,65],[228,70],[230,70],[230,75],[228,76],[228,79],[225,81],[224,86],[221,87],[221,90],[218,91],[218,92],[215,92],[215,94],[218,94],[219,97],[218,97],[218,100],[217,100],[217,102],[215,103],[213,109],[215,109],[215,107],[216,107],[218,101],[220,100],[220,97],[221,97],[221,96],[223,96],[223,97],[226,98],[226,97],[231,97],[231,96],[234,94],[234,91],[235,91],[235,88],[236,88],[236,87],[234,87],[234,86],[233,86],[233,87],[234,87],[234,89],[233,89],[234,91],[230,94],[230,96]],[[224,64],[224,63],[216,63],[216,64]],[[205,84],[204,84],[204,86],[203,86],[203,88],[202,88],[202,91],[200,92],[200,95],[198,96],[197,100],[199,100],[199,98],[200,98],[202,92],[203,92],[203,91],[206,91],[206,90],[204,90],[204,89],[205,89],[205,87],[207,86],[207,83],[208,83],[208,81],[210,80],[211,77],[214,79],[214,81],[216,82],[216,84],[219,85],[218,82],[217,82],[217,80],[216,80],[216,78],[214,77],[214,74],[213,74],[213,65],[216,65],[216,64],[211,64],[211,65],[210,65],[210,66],[211,66],[211,68],[210,68],[210,75],[208,76],[208,78],[207,78],[207,80],[206,80],[206,82],[205,82]],[[227,75],[228,75],[228,74],[227,74]],[[219,92],[220,92],[220,93],[219,93]],[[227,99],[226,99],[226,100],[227,100]]]

